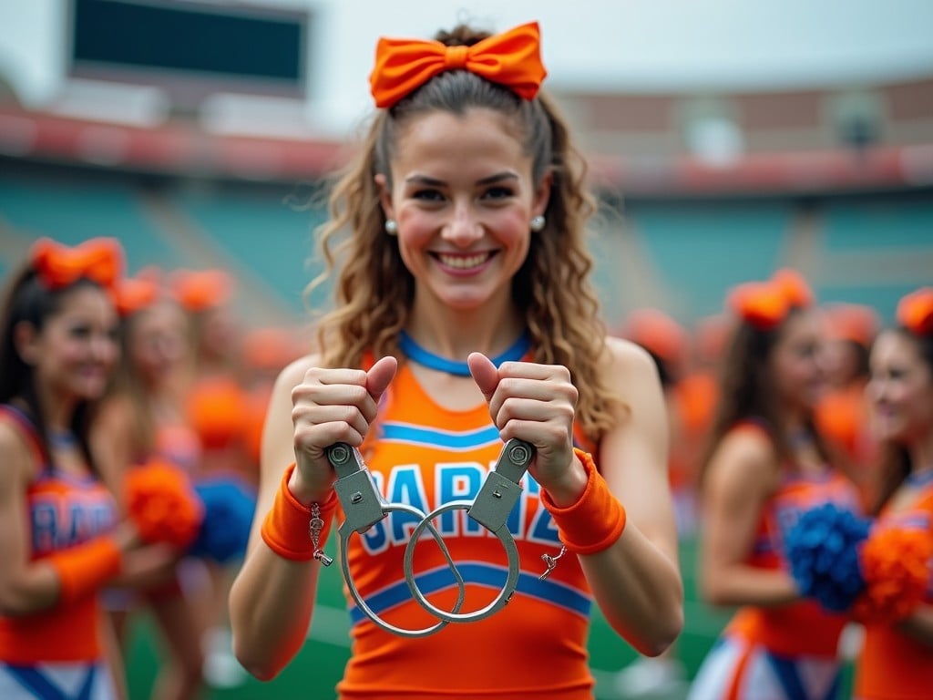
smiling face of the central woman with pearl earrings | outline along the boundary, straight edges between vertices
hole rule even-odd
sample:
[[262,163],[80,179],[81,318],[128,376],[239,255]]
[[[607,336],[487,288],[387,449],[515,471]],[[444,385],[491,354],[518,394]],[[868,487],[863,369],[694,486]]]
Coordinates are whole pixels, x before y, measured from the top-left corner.
[[482,107],[425,115],[400,130],[390,174],[376,175],[385,216],[397,222],[401,259],[425,280],[414,304],[428,317],[490,298],[510,303],[510,280],[528,253],[529,222],[544,213],[550,175],[536,185],[532,159],[507,126]]

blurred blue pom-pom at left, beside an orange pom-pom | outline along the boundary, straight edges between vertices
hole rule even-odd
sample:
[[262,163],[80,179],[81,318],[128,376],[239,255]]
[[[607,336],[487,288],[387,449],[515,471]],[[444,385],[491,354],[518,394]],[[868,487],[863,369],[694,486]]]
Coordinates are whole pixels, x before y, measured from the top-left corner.
[[256,495],[236,479],[217,478],[194,486],[204,520],[189,553],[220,564],[242,557],[256,511]]

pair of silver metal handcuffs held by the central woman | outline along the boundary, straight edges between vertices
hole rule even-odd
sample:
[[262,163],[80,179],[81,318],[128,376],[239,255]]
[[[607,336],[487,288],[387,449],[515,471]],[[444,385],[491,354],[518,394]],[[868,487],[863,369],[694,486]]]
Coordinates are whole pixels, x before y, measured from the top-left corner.
[[[379,489],[372,480],[372,474],[363,462],[359,450],[355,447],[351,447],[344,442],[337,442],[328,447],[327,460],[337,472],[334,490],[341,502],[341,509],[345,517],[338,528],[343,580],[346,581],[347,589],[359,609],[373,623],[382,627],[386,632],[391,632],[399,637],[427,637],[439,632],[448,623],[477,622],[502,609],[515,592],[515,587],[519,581],[519,551],[515,539],[508,531],[506,521],[508,520],[508,514],[512,511],[522,493],[520,482],[534,455],[535,448],[528,442],[517,439],[509,440],[502,448],[493,469],[490,469],[489,473],[487,473],[486,479],[480,486],[480,492],[473,500],[454,500],[439,506],[429,513],[425,513],[406,503],[387,502],[379,493]],[[443,538],[431,522],[441,513],[455,510],[466,511],[466,514],[473,520],[492,532],[502,542],[508,555],[508,576],[499,591],[499,595],[485,608],[472,612],[460,612],[466,597],[466,583],[453,563],[453,558]],[[439,623],[430,627],[406,629],[385,622],[375,611],[369,608],[363,596],[356,589],[353,576],[350,573],[347,559],[347,546],[350,537],[354,532],[362,535],[369,527],[375,525],[393,511],[407,512],[420,520],[411,532],[411,538],[405,547],[402,569],[405,572],[405,581],[408,583],[411,595],[424,609],[439,619]],[[428,601],[418,588],[417,581],[414,578],[412,571],[414,548],[425,529],[437,540],[457,584],[457,600],[453,605],[453,610],[450,611],[439,609]],[[550,573],[554,558],[545,557],[545,561],[548,564],[547,573]],[[329,558],[322,558],[321,562],[325,566],[329,566],[331,563]]]

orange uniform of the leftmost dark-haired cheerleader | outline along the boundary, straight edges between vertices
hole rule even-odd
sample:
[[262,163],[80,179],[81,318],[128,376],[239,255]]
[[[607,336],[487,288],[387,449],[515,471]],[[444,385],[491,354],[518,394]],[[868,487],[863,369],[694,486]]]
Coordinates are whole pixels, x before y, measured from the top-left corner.
[[[113,529],[117,504],[102,483],[90,475],[76,478],[56,473],[35,438],[35,428],[15,408],[0,406],[0,420],[12,422],[21,430],[43,465],[25,494],[33,561]],[[4,683],[10,679],[23,687],[34,682],[54,687],[56,665],[86,665],[90,676],[103,656],[98,636],[100,619],[97,595],[86,595],[73,603],[61,602],[22,617],[0,616],[0,689],[7,689]]]

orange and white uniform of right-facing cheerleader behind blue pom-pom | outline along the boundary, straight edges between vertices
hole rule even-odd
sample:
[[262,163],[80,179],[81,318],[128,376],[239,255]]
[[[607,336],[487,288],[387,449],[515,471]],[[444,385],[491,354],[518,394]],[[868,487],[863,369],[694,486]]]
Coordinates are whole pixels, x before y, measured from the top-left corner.
[[[733,429],[763,430],[753,422]],[[804,511],[827,502],[861,511],[855,485],[838,472],[827,469],[819,475],[787,474],[761,512],[754,550],[746,563],[788,569],[785,533]],[[839,688],[837,647],[845,623],[843,615],[831,614],[813,600],[769,608],[745,606],[732,617],[718,648],[701,667],[690,698],[835,697]],[[728,661],[717,660],[717,652],[728,656]],[[819,666],[818,671],[801,666],[812,662]],[[761,694],[767,686],[772,694]]]

